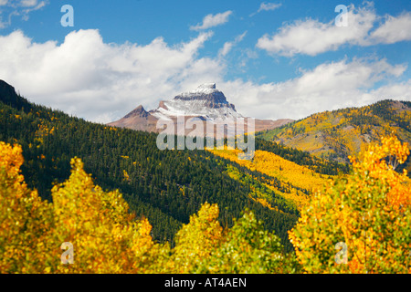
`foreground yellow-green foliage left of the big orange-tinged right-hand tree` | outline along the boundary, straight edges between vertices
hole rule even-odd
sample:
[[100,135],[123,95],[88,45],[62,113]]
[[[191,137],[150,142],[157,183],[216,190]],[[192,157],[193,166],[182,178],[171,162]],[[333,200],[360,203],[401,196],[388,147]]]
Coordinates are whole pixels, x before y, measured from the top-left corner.
[[[152,225],[137,220],[118,191],[95,185],[83,163],[52,189],[53,203],[31,191],[20,173],[22,150],[0,142],[1,273],[292,272],[279,238],[246,212],[231,229],[204,203],[176,235],[176,245],[153,242]],[[60,247],[70,243],[72,264]],[[240,258],[240,260],[237,260]]]

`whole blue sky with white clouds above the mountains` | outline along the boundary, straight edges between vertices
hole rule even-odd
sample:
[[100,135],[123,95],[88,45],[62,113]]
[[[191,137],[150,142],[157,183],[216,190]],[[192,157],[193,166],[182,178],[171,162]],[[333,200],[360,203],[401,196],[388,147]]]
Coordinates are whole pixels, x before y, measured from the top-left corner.
[[410,49],[410,1],[0,0],[0,79],[99,122],[206,82],[264,119],[411,100]]

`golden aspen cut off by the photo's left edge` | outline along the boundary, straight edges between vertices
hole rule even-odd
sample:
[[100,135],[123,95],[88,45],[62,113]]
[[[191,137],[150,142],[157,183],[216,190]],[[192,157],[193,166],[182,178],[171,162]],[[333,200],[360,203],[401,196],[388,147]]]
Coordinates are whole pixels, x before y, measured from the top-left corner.
[[0,141],[0,273],[47,273],[56,267],[52,208],[27,188],[23,162],[19,145]]

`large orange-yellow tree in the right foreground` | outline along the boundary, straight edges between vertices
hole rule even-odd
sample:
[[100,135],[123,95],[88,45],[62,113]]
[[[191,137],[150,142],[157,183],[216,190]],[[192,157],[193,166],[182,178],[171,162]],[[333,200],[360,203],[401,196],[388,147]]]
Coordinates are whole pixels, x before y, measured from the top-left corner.
[[306,272],[411,272],[411,192],[406,172],[395,172],[407,155],[407,144],[382,138],[351,158],[351,175],[313,195],[290,231]]

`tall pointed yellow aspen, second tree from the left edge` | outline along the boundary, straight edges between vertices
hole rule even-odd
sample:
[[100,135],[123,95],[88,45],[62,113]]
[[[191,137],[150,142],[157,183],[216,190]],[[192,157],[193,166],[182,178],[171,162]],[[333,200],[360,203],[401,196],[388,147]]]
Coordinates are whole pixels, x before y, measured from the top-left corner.
[[71,175],[52,189],[56,231],[61,243],[74,247],[74,263],[62,273],[148,273],[155,253],[152,226],[135,221],[118,191],[104,192],[93,183],[83,163],[71,160]]

